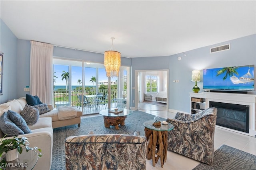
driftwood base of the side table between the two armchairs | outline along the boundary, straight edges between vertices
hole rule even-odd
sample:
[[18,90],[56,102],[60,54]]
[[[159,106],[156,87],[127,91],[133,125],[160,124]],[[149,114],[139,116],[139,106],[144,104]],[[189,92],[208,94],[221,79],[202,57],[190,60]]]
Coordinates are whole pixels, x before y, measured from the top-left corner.
[[145,134],[147,138],[147,159],[152,159],[153,166],[156,166],[160,158],[161,167],[167,157],[167,131],[155,131],[145,127]]

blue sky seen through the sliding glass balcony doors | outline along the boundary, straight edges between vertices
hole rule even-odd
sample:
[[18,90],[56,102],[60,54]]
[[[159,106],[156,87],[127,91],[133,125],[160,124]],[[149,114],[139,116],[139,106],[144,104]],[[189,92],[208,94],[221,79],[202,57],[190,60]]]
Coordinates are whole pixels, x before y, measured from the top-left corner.
[[[66,80],[62,79],[61,74],[63,74],[63,71],[68,72],[68,66],[67,65],[58,65],[54,64],[54,72],[55,76],[58,78],[55,78],[56,83],[54,83],[55,86],[66,86]],[[99,75],[99,81],[101,80],[108,80],[108,77],[106,77],[106,71],[104,68],[98,69],[98,75]],[[85,67],[85,86],[93,86],[93,83],[90,82],[92,76],[96,77],[96,68],[89,68]],[[81,84],[78,84],[77,81],[80,79],[82,81],[82,67],[80,66],[72,66],[72,86],[80,86]],[[111,81],[116,81],[117,77],[111,78]],[[95,83],[94,83],[95,86]]]

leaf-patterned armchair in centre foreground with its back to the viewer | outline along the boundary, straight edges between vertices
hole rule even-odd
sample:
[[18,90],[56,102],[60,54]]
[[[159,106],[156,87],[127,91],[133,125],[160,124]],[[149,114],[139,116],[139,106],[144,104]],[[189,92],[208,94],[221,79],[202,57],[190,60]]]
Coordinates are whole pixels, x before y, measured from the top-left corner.
[[146,137],[102,134],[71,136],[65,140],[66,170],[145,170]]

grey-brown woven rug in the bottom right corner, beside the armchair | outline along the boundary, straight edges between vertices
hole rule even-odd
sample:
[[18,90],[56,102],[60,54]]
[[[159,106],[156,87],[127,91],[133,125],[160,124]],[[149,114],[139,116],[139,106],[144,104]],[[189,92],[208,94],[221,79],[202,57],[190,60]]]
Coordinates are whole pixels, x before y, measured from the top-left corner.
[[214,152],[212,165],[199,164],[193,170],[255,170],[256,156],[222,145]]

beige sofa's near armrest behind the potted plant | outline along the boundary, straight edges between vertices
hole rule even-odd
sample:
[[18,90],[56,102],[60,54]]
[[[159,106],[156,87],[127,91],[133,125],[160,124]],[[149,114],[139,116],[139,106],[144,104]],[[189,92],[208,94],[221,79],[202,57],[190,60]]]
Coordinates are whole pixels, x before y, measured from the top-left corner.
[[[36,170],[50,170],[52,165],[52,133],[48,131],[34,132],[28,133],[24,135],[19,135],[18,137],[26,137],[28,138],[29,147],[38,147],[42,150],[42,157],[38,158],[36,166],[34,169]],[[13,137],[6,137],[4,139],[10,139]],[[26,150],[23,150],[26,152]]]

